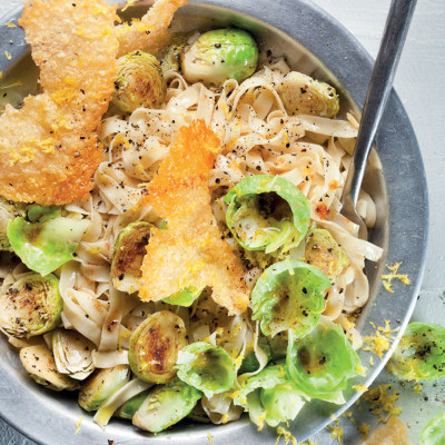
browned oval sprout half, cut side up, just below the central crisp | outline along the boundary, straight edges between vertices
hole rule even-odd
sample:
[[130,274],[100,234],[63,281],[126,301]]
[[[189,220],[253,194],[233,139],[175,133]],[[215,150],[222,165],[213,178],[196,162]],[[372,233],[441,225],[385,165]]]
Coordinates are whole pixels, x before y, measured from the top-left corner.
[[130,338],[128,360],[145,382],[167,383],[176,376],[178,352],[187,345],[182,318],[170,310],[149,315]]

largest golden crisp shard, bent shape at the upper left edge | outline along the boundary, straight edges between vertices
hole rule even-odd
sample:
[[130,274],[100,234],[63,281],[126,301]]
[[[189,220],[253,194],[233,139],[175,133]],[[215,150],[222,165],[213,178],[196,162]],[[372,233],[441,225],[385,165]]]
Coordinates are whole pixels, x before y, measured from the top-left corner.
[[101,0],[32,0],[19,24],[42,93],[0,115],[0,195],[68,204],[88,197],[102,159],[97,128],[116,77],[116,8]]

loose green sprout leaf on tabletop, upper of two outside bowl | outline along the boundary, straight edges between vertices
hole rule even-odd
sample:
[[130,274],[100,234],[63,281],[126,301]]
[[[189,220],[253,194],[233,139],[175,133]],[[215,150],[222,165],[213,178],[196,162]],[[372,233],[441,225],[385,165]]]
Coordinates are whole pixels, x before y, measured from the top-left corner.
[[400,380],[436,380],[445,376],[445,327],[411,323],[390,357],[388,369]]

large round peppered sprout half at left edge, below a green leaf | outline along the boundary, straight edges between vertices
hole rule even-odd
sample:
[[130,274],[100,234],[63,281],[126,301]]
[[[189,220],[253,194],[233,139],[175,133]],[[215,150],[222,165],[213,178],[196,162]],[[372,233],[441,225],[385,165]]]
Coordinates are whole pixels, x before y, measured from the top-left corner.
[[59,280],[29,273],[0,295],[0,327],[18,338],[44,334],[59,324],[62,307]]

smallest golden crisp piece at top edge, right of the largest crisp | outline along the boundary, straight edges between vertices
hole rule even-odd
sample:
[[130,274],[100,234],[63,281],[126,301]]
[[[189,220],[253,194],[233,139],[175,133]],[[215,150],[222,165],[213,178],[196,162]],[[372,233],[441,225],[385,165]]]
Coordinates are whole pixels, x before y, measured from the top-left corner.
[[119,39],[119,57],[135,50],[148,50],[156,53],[170,41],[168,27],[177,9],[187,4],[188,0],[157,0],[140,19],[131,24],[116,27]]

